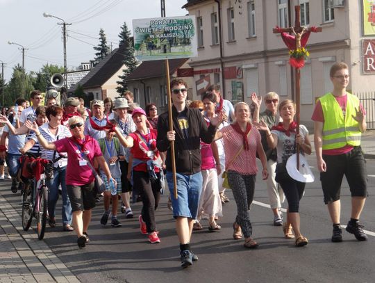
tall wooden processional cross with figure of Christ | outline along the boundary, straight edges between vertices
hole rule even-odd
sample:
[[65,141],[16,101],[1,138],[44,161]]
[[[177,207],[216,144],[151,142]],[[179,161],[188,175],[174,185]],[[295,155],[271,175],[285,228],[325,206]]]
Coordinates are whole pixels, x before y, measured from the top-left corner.
[[[290,26],[288,28],[284,29],[273,29],[274,33],[293,33],[295,40],[296,40],[296,49],[301,48],[301,37],[303,33],[306,33],[307,31],[314,31],[314,32],[320,32],[322,31],[322,28],[306,28],[304,26],[301,26],[300,21],[300,10],[301,6],[294,6],[294,13],[295,13],[295,22],[294,26]],[[300,104],[300,96],[301,96],[301,72],[298,68],[296,68],[295,72],[295,82],[296,82],[296,122],[297,122],[297,129],[296,134],[299,134],[299,104]],[[299,145],[297,145],[297,169],[299,169]]]

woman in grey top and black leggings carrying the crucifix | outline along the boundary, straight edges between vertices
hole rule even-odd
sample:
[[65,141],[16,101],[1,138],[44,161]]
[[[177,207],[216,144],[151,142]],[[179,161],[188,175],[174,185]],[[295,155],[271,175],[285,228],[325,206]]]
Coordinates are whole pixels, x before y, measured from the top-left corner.
[[267,143],[270,148],[277,147],[277,165],[276,165],[276,181],[281,184],[285,197],[288,200],[287,222],[284,224],[285,238],[294,238],[291,227],[296,237],[297,247],[308,244],[308,239],[302,236],[300,231],[299,218],[299,201],[303,195],[306,183],[301,183],[290,177],[285,165],[288,158],[296,153],[296,145],[302,153],[311,154],[310,140],[308,139],[308,129],[305,126],[299,125],[299,132],[296,134],[297,123],[294,122],[296,106],[292,100],[286,99],[278,106],[283,122],[278,123],[277,126],[272,127],[270,131],[264,121],[257,124],[260,130],[266,131]]

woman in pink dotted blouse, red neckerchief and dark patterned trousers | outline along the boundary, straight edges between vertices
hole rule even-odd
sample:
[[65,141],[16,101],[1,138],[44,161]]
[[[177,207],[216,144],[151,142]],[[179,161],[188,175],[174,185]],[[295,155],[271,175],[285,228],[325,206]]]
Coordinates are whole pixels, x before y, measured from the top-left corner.
[[[220,129],[216,138],[223,138],[225,152],[225,170],[228,174],[228,183],[233,191],[237,204],[237,217],[233,223],[233,238],[242,238],[244,247],[256,248],[258,243],[253,240],[249,208],[253,202],[256,173],[256,154],[262,162],[262,177],[267,179],[267,159],[258,129],[252,127],[250,108],[245,102],[235,104],[235,122]],[[241,233],[242,230],[242,233]]]

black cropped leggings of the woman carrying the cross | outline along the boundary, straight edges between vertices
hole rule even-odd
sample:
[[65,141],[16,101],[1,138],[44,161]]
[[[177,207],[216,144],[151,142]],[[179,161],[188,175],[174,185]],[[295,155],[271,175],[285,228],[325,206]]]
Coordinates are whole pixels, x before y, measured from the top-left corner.
[[288,172],[276,172],[275,180],[283,188],[286,199],[288,200],[289,212],[299,211],[299,201],[305,191],[306,183],[301,183],[292,179]]

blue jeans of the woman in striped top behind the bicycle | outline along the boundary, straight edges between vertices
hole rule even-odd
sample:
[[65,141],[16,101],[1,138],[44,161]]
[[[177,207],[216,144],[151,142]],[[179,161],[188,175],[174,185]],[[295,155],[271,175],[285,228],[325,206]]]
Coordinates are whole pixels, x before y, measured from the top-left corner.
[[61,184],[61,196],[63,197],[63,211],[61,213],[61,218],[63,219],[63,224],[72,223],[72,207],[70,205],[69,197],[67,196],[67,186],[65,184],[65,175],[67,168],[53,168],[53,179],[47,180],[46,184],[49,188],[48,193],[48,213],[49,217],[55,218],[56,203],[58,202],[58,186]]

